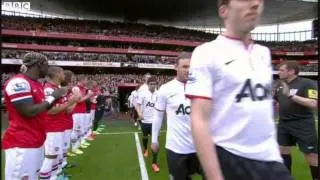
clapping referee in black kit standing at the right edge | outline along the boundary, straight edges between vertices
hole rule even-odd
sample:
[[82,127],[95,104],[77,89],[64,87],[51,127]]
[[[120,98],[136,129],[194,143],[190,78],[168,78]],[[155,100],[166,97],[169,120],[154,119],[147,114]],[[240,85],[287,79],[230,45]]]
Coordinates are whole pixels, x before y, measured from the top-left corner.
[[280,84],[275,92],[279,103],[278,143],[284,163],[291,172],[291,146],[304,153],[313,180],[318,180],[318,138],[314,110],[318,108],[317,84],[298,76],[299,63],[284,61],[279,65]]

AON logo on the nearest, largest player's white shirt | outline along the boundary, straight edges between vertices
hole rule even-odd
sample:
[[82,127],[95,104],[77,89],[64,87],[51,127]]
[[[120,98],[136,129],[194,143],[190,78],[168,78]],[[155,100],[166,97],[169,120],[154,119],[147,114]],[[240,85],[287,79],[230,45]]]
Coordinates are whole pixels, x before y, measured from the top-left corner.
[[250,98],[252,101],[263,101],[271,98],[271,85],[264,86],[260,83],[252,84],[251,79],[247,79],[236,96],[239,103],[243,98]]

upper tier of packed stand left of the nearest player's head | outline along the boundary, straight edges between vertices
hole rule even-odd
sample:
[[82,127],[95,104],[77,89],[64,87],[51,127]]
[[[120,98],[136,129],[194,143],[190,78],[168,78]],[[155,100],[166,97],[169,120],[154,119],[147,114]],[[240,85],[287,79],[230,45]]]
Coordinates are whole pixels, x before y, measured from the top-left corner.
[[2,28],[24,31],[92,33],[110,36],[177,39],[189,41],[212,40],[216,35],[202,31],[110,21],[45,19],[2,16]]

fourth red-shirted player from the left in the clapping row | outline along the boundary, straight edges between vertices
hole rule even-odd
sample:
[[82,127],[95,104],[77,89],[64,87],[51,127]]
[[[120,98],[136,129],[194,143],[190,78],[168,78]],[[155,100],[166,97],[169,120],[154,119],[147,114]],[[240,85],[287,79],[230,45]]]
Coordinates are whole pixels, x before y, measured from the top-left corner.
[[85,101],[91,97],[92,92],[90,91],[88,94],[86,94],[86,88],[85,85],[87,84],[88,80],[86,77],[82,78],[76,86],[72,88],[73,93],[80,93],[81,99],[77,103],[76,107],[74,108],[72,118],[73,118],[73,135],[74,137],[77,137],[76,141],[72,142],[72,152],[75,154],[83,154],[83,151],[79,149],[80,144],[82,144],[82,147],[85,147],[88,145],[85,142],[85,117],[86,117],[86,103]]

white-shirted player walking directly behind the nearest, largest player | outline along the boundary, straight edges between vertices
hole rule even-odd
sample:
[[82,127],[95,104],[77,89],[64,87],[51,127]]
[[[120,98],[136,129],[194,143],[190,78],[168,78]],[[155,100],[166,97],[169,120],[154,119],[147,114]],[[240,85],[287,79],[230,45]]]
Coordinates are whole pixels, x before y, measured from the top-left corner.
[[175,65],[176,78],[162,85],[157,92],[156,112],[152,121],[151,148],[153,152],[158,152],[158,135],[166,112],[167,162],[172,180],[190,180],[194,173],[203,175],[191,135],[190,100],[184,92],[189,66],[190,55],[182,53]]

